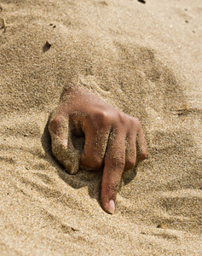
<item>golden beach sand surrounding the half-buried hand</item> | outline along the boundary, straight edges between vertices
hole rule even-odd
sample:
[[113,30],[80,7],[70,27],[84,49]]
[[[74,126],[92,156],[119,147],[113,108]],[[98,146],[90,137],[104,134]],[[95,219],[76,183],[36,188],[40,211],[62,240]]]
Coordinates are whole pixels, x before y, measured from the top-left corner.
[[[0,254],[201,255],[201,2],[1,6]],[[71,176],[51,155],[49,113],[70,82],[146,135],[148,159],[124,173],[114,215],[101,172]]]

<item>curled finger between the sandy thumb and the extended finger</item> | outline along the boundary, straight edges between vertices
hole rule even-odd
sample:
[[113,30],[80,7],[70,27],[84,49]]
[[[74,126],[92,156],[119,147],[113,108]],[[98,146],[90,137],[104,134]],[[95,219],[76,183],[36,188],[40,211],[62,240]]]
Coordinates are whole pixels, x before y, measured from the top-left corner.
[[89,125],[85,129],[84,153],[81,156],[82,166],[90,169],[100,169],[107,148],[109,130],[107,128],[95,129]]

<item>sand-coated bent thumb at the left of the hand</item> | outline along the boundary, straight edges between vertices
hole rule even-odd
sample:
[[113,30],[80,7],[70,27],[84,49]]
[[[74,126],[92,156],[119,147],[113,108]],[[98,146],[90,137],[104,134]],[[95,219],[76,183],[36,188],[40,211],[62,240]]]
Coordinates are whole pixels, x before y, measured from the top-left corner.
[[79,152],[72,145],[68,119],[58,113],[49,121],[51,147],[55,158],[70,174],[78,172]]

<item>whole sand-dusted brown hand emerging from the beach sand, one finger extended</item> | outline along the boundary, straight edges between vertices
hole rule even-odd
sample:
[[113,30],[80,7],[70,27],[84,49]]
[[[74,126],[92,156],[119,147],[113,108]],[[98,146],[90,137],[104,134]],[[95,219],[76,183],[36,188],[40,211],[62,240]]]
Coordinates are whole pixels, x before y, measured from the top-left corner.
[[85,136],[79,164],[92,170],[103,168],[101,206],[113,214],[122,174],[136,165],[136,144],[138,159],[147,158],[140,121],[88,90],[72,85],[61,94],[58,108],[49,120],[49,133],[55,157],[67,172],[76,173],[79,166],[72,169],[71,160],[67,160],[73,150],[68,152],[70,130],[78,137]]

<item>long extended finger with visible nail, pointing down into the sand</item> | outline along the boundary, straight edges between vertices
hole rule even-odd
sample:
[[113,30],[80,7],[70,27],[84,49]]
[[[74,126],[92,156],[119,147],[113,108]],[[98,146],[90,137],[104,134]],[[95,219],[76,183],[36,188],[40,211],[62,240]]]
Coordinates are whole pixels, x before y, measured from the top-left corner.
[[101,205],[108,213],[114,213],[118,186],[124,172],[125,136],[123,132],[109,139],[101,184]]

